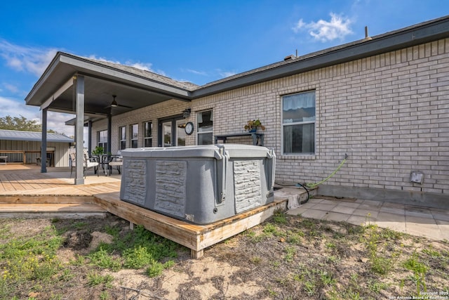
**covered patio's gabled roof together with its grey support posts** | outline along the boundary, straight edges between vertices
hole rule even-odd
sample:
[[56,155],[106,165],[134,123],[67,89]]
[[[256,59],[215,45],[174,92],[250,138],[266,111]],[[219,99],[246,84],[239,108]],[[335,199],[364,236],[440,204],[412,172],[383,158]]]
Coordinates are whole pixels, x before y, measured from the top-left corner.
[[[106,152],[111,152],[111,119],[141,107],[166,100],[189,102],[196,85],[179,82],[135,67],[93,60],[58,52],[46,71],[25,98],[27,105],[42,111],[42,132],[47,131],[47,112],[76,115],[69,121],[75,126],[76,160],[83,160],[83,128],[88,126],[88,151],[91,153],[91,126],[107,119]],[[182,113],[182,112],[181,112]],[[46,135],[42,135],[41,157],[46,157]],[[45,164],[41,172],[46,173]],[[83,184],[83,168],[76,167],[76,185]]]

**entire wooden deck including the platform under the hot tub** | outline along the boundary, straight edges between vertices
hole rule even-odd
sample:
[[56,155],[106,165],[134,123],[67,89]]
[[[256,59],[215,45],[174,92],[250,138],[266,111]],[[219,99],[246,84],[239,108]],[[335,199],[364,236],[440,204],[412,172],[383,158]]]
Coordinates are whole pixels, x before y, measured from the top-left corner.
[[143,209],[120,200],[120,176],[88,174],[84,185],[74,185],[70,169],[48,170],[27,165],[0,166],[0,217],[80,217],[111,214],[139,224],[191,249],[199,258],[203,249],[256,226],[277,209],[287,208],[287,197],[243,214],[199,226]]

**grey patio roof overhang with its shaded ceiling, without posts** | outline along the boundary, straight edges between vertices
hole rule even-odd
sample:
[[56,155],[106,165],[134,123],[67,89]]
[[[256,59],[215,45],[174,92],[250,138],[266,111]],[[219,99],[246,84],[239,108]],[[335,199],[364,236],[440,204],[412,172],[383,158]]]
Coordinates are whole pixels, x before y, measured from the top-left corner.
[[[75,114],[74,79],[80,75],[84,77],[86,121],[119,115],[170,99],[190,100],[189,84],[182,88],[182,83],[158,74],[58,52],[25,98],[27,105]],[[117,107],[111,106],[114,95],[119,103]]]

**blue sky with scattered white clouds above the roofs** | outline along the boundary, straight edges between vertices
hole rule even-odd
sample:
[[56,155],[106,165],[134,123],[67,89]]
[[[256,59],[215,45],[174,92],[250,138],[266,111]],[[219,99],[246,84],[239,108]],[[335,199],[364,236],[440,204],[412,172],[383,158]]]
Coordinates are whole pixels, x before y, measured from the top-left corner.
[[[201,85],[445,15],[447,0],[0,1],[0,117],[40,122],[24,99],[56,51]],[[48,128],[72,135],[71,117]]]

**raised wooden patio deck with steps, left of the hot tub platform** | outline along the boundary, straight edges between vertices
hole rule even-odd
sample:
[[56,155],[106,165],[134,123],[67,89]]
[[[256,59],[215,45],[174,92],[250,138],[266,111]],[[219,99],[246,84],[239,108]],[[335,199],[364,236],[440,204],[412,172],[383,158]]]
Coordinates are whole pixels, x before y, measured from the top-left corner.
[[120,177],[88,174],[85,185],[74,185],[69,168],[48,168],[41,173],[34,164],[0,165],[0,217],[83,218],[106,216],[94,203],[97,194],[116,193]]

